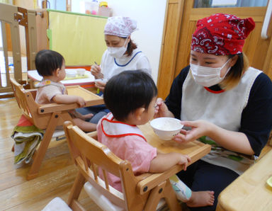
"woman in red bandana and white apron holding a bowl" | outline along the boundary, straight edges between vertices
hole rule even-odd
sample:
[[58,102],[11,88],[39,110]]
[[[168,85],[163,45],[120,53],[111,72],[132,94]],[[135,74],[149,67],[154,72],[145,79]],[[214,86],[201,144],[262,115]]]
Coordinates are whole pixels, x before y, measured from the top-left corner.
[[165,103],[157,100],[157,117],[179,118],[186,126],[174,141],[212,145],[208,155],[179,173],[193,191],[215,191],[213,206],[192,210],[215,210],[220,192],[254,164],[268,141],[271,80],[249,67],[242,51],[254,27],[252,18],[222,13],[199,20],[190,66],[174,79]]

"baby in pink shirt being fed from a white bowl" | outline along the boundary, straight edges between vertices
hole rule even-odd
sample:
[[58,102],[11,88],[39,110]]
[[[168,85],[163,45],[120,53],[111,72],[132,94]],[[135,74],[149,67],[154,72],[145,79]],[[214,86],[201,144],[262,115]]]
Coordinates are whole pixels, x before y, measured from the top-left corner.
[[[157,87],[145,72],[125,71],[113,76],[104,89],[104,101],[111,113],[97,125],[98,141],[105,144],[120,159],[130,161],[135,175],[159,173],[176,164],[186,171],[191,158],[179,153],[162,154],[147,143],[137,125],[144,125],[154,116]],[[103,173],[99,175],[103,178]],[[120,178],[109,173],[108,181],[122,192]],[[171,179],[177,198],[190,207],[212,205],[213,191],[191,191],[176,176]]]

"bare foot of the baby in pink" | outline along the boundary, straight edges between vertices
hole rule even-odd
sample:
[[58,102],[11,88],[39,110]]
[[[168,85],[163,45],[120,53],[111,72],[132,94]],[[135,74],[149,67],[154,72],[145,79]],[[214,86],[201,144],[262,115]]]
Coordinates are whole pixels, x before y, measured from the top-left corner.
[[188,207],[205,207],[212,206],[215,201],[215,196],[213,191],[192,191],[192,196],[186,202]]

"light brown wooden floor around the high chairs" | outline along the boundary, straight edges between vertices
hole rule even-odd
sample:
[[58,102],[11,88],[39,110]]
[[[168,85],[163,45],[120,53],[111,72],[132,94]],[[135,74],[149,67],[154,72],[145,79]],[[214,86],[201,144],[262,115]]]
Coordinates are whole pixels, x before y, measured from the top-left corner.
[[[26,181],[29,166],[13,164],[11,133],[21,111],[15,98],[0,99],[0,210],[42,210],[55,197],[67,202],[77,168],[65,141],[50,143],[38,178]],[[101,210],[84,190],[79,197],[86,210]]]

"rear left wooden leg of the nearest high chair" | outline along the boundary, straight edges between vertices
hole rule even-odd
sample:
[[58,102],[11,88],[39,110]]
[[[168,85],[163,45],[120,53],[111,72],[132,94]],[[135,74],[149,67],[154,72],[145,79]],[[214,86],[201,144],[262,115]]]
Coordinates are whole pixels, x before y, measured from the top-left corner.
[[81,193],[84,183],[85,183],[84,176],[80,172],[77,173],[77,178],[74,181],[74,184],[69,194],[69,198],[67,202],[68,206],[71,207],[72,210],[77,210],[77,207],[78,207],[77,199],[79,198],[79,194]]

